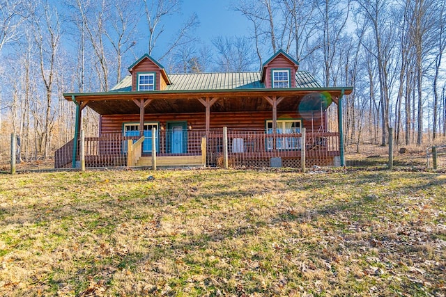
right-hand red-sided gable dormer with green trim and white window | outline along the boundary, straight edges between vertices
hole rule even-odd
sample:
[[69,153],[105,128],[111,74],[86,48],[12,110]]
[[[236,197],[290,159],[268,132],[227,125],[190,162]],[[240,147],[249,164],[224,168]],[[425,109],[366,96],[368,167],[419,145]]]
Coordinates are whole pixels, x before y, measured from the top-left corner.
[[299,63],[279,49],[263,63],[261,82],[265,88],[295,88],[295,72],[298,68]]

